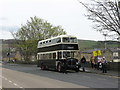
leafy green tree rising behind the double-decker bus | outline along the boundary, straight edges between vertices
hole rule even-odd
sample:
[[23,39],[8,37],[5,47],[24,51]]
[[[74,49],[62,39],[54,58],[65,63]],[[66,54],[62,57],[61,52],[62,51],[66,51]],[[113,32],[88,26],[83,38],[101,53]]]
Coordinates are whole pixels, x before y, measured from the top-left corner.
[[36,56],[39,40],[63,35],[66,32],[60,26],[53,26],[35,16],[30,17],[30,21],[28,20],[16,33],[12,34],[17,41],[17,47],[24,56],[24,59],[30,60],[30,56]]

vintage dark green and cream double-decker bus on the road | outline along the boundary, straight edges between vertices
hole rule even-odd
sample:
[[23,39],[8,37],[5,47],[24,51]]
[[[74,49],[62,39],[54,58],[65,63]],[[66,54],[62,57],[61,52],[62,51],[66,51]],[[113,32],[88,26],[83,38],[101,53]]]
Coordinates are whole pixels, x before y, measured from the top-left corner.
[[[55,69],[59,72],[67,70],[79,71],[78,41],[75,36],[61,35],[38,42],[37,66],[45,69]],[[64,65],[66,64],[66,65]]]

